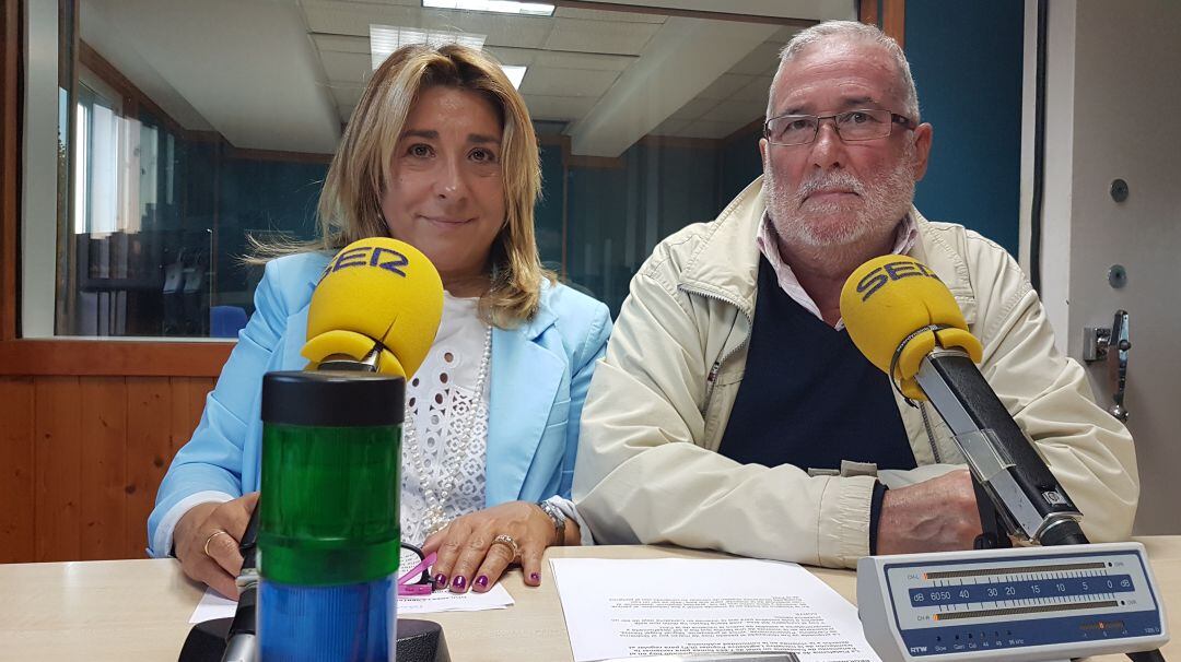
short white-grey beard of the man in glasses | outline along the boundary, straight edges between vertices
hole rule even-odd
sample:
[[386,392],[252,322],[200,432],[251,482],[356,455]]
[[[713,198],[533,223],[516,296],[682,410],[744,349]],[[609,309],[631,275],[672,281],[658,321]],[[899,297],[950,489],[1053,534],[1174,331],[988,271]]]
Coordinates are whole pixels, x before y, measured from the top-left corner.
[[[768,210],[779,241],[807,248],[842,247],[883,236],[911,209],[914,199],[914,146],[907,145],[899,163],[882,177],[862,182],[848,170],[833,170],[801,182],[795,191],[764,164]],[[850,190],[859,197],[839,202],[808,202],[822,190]]]

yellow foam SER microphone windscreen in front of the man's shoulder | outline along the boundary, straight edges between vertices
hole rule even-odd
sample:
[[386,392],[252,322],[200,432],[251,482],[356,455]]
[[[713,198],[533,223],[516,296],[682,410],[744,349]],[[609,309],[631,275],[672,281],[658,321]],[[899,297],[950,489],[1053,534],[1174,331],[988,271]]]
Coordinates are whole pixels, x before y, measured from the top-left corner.
[[[951,290],[934,271],[906,255],[883,255],[857,267],[841,290],[841,317],[857,349],[887,374],[895,352],[906,342],[890,379],[912,400],[926,400],[914,376],[937,341],[980,362],[980,341],[968,332]],[[915,334],[933,325],[947,328]]]

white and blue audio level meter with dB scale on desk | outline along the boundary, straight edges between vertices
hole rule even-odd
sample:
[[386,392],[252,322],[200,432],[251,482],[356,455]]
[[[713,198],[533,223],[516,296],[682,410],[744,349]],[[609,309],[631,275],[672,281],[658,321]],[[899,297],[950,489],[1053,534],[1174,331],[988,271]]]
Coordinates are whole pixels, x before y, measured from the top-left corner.
[[883,662],[1065,661],[1169,638],[1140,543],[866,557],[857,607]]

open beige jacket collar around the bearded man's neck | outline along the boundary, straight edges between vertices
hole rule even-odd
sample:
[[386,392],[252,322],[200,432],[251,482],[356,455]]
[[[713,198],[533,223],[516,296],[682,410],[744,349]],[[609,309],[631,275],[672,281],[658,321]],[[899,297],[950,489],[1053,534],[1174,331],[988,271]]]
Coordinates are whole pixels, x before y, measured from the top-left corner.
[[[692,249],[678,286],[726,300],[748,316],[753,316],[761,260],[755,242],[765,211],[763,177],[759,176],[726,205],[716,221],[705,224],[703,241]],[[911,217],[919,228],[919,240],[907,255],[939,275],[960,304],[967,323],[973,325],[977,306],[967,264],[913,205]]]

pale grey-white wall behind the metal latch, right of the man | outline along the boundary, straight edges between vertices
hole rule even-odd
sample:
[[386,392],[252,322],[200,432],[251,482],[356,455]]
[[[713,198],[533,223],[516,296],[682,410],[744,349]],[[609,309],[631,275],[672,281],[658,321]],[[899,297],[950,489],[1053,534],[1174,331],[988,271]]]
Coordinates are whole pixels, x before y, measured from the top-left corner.
[[[1046,202],[1042,295],[1061,346],[1082,355],[1084,326],[1131,315],[1125,405],[1135,438],[1140,533],[1179,533],[1181,518],[1181,2],[1050,2]],[[1026,58],[1032,66],[1032,58]],[[1127,202],[1111,199],[1115,178]],[[1108,284],[1113,264],[1128,284]],[[1089,368],[1111,405],[1108,366]]]

